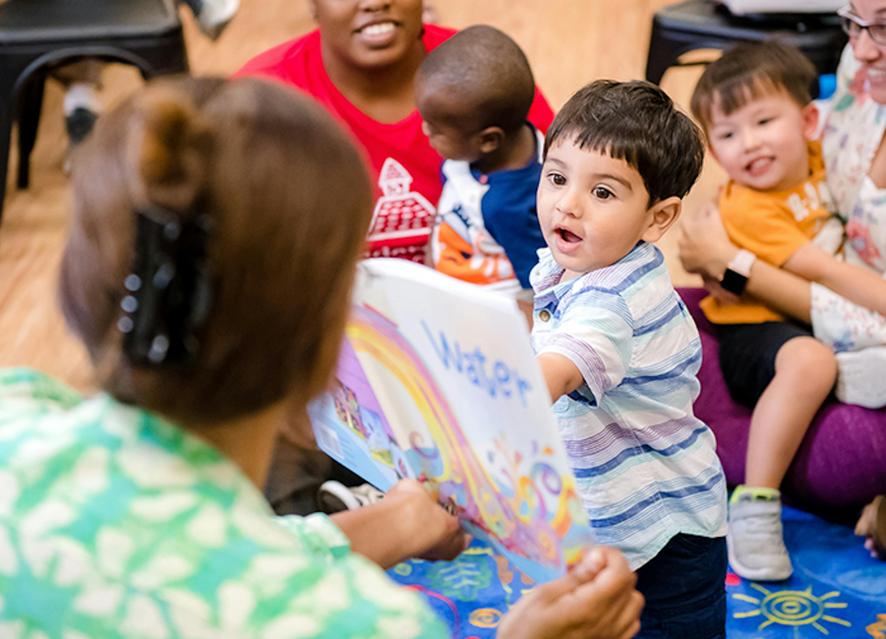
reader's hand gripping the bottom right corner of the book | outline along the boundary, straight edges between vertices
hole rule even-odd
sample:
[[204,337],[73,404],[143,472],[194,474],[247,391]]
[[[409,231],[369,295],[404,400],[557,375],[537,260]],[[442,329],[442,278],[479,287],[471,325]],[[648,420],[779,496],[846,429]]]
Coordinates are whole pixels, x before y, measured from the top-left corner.
[[501,620],[500,639],[628,639],[640,631],[643,596],[625,557],[591,550],[564,577],[533,588]]

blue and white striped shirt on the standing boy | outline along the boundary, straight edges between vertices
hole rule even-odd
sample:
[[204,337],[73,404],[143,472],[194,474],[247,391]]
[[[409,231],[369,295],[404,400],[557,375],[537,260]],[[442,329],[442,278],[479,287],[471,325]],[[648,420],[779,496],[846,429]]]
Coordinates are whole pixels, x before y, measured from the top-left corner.
[[641,242],[565,282],[550,249],[539,259],[532,347],[585,379],[554,412],[597,541],[635,570],[675,534],[726,534],[714,434],[692,412],[701,341],[661,251]]

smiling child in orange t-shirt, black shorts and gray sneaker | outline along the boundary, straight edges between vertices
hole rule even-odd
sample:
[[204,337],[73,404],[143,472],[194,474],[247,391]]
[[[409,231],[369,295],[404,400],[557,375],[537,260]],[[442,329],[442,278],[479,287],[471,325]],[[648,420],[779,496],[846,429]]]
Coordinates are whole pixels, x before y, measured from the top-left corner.
[[[827,257],[821,249],[833,255],[842,243],[843,226],[814,139],[815,81],[812,63],[797,49],[742,44],[707,68],[692,98],[711,154],[730,178],[720,192],[719,212],[729,238],[742,249],[719,286],[709,286],[734,294],[711,295],[702,308],[719,324],[719,361],[729,393],[753,409],[746,484],[730,500],[727,534],[730,564],[751,580],[780,581],[792,572],[779,487],[812,417],[835,386],[835,348],[886,341],[882,316],[819,284],[811,284],[812,327],[741,298],[754,261],[821,281]],[[839,263],[827,262],[828,268]],[[832,270],[826,281],[840,292],[849,277],[846,269]],[[852,307],[857,316],[847,322],[845,314],[828,315],[828,304]]]

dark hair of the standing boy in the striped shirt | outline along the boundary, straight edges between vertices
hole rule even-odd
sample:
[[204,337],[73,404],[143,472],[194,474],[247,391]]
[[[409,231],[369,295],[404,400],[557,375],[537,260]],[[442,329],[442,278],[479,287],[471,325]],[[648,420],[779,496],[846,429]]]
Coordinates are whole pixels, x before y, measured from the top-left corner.
[[702,132],[670,97],[651,82],[598,80],[569,98],[545,138],[554,144],[625,160],[643,178],[649,206],[686,196],[701,173]]

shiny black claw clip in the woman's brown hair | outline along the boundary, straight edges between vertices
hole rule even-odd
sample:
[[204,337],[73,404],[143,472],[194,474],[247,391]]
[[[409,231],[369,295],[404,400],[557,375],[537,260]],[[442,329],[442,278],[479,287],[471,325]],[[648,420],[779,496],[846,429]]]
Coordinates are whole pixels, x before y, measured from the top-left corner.
[[211,303],[206,260],[210,219],[183,220],[163,207],[136,209],[136,259],[120,300],[123,353],[139,365],[188,363]]

